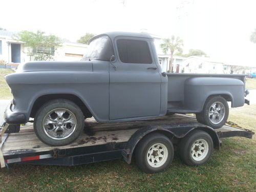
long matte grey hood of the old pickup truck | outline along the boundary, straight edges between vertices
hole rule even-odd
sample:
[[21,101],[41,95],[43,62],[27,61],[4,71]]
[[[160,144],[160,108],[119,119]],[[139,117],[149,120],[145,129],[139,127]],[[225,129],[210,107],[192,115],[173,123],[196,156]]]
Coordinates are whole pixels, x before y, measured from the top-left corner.
[[92,62],[90,61],[32,61],[20,64],[17,72],[92,70]]

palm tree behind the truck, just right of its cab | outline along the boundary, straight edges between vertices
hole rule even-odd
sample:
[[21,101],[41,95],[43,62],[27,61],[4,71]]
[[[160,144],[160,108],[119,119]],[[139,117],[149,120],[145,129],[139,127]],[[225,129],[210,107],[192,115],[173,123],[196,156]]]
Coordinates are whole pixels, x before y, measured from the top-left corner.
[[172,67],[173,67],[173,57],[174,52],[182,52],[183,47],[183,40],[180,37],[176,37],[172,35],[171,38],[163,39],[163,44],[160,45],[163,52],[166,54],[168,51],[170,51],[170,65],[169,65],[169,71],[172,73]]

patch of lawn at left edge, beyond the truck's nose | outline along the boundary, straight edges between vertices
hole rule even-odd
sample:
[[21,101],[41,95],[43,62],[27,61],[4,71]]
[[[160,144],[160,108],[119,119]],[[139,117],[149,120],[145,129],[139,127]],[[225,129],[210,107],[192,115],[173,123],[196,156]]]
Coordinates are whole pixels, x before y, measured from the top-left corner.
[[0,69],[0,99],[11,99],[12,94],[6,83],[5,76],[7,74],[13,73],[11,69]]

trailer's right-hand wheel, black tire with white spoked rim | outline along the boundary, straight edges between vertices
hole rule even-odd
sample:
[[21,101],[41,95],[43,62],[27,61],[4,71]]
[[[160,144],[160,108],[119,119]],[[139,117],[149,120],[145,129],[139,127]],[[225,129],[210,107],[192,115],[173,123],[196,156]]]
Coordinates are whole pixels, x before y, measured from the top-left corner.
[[[199,151],[198,146],[200,146],[202,143],[204,144],[204,142],[207,142],[208,146],[204,146],[205,149],[202,148],[202,156],[200,157],[199,154],[194,152]],[[206,149],[206,147],[208,148],[208,150]],[[195,151],[192,151],[192,149],[194,149]],[[209,160],[213,150],[214,143],[212,142],[210,135],[201,130],[196,130],[191,133],[188,133],[188,135],[182,138],[179,143],[180,158],[184,163],[190,166],[202,165],[206,163]]]

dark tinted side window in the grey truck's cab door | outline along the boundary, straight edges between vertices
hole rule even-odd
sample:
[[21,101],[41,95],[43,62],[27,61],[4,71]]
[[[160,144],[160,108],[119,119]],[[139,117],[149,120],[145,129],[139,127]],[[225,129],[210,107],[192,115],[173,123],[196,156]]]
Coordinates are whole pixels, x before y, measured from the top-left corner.
[[148,43],[145,40],[118,39],[118,55],[125,63],[152,63]]

